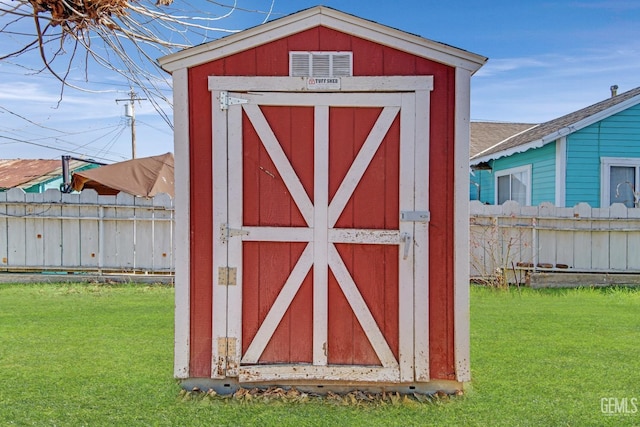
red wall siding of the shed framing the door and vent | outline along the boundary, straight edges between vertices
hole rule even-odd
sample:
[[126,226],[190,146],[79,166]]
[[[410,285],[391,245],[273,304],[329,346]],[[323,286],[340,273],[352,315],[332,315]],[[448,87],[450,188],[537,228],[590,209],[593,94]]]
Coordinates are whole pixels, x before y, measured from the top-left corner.
[[[191,156],[191,360],[193,377],[211,368],[211,99],[209,75],[286,76],[291,50],[353,52],[354,75],[433,75],[430,157],[431,377],[454,379],[453,163],[455,69],[424,58],[317,27],[189,70]],[[197,237],[197,238],[196,238]]]

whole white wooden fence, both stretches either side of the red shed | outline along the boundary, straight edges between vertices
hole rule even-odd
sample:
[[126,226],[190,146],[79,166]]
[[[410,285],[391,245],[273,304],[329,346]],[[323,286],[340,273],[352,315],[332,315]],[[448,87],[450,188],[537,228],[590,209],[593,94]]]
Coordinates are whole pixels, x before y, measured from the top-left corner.
[[[0,271],[173,273],[173,200],[0,192]],[[640,274],[640,208],[470,204],[470,272]]]

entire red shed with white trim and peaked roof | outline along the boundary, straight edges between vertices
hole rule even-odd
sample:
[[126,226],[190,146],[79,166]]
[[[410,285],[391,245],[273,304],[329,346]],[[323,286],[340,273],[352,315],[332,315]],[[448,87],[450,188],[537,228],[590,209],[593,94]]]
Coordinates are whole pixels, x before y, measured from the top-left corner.
[[470,380],[469,83],[485,61],[326,7],[160,60],[184,387]]

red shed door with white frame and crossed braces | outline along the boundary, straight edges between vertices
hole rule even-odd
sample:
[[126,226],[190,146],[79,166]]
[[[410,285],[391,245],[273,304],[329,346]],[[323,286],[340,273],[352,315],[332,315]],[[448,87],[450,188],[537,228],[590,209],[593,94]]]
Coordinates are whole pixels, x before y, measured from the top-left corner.
[[431,77],[211,77],[212,378],[429,379]]

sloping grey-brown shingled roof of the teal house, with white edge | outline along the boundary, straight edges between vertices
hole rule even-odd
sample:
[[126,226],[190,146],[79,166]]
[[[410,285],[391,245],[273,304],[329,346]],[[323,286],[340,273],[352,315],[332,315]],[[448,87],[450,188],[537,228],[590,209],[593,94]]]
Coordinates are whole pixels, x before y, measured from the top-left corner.
[[640,104],[640,87],[513,135],[471,157],[471,165],[539,148]]

